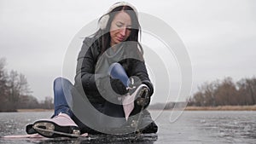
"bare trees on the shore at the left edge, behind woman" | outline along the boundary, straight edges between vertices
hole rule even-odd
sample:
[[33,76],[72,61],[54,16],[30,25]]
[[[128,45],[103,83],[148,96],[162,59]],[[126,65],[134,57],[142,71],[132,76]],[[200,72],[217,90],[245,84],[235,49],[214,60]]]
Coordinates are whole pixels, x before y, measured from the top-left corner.
[[45,97],[43,102],[32,96],[32,90],[24,74],[5,69],[6,60],[0,58],[0,112],[15,112],[20,108],[53,108],[53,99]]

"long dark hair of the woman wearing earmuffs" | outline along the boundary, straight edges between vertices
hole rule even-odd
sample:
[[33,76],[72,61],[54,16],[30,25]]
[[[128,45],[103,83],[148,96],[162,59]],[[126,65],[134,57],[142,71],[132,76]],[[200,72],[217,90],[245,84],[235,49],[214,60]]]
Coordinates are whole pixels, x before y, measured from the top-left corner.
[[[116,14],[118,14],[120,11],[125,11],[126,14],[129,14],[131,17],[131,34],[125,41],[134,41],[138,42],[138,34],[140,33],[141,35],[141,26],[139,24],[138,18],[137,18],[137,13],[132,9],[130,6],[124,5],[124,6],[119,6],[112,11],[110,11],[109,14],[109,19],[108,19],[108,24],[105,29],[99,29],[95,34],[93,34],[93,37],[96,38],[96,41],[94,44],[100,48],[100,53],[101,55],[106,51],[108,48],[110,48],[110,26],[111,22],[113,21],[113,18]],[[101,20],[101,19],[100,19]]]

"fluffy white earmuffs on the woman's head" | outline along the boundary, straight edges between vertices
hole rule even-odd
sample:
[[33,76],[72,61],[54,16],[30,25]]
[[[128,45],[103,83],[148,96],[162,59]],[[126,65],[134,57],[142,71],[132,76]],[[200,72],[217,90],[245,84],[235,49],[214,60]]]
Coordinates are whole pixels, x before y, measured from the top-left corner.
[[137,9],[136,9],[133,5],[131,5],[130,3],[127,3],[127,2],[114,3],[114,4],[108,9],[107,14],[102,15],[102,17],[100,18],[100,20],[99,20],[99,22],[98,22],[98,25],[99,25],[100,29],[102,29],[102,30],[106,29],[106,27],[107,27],[107,25],[108,25],[108,20],[109,20],[109,13],[110,13],[113,9],[115,9],[115,8],[117,8],[117,7],[120,7],[120,6],[125,6],[125,5],[131,7],[131,9],[133,9],[133,10],[135,11],[135,13],[137,14]]

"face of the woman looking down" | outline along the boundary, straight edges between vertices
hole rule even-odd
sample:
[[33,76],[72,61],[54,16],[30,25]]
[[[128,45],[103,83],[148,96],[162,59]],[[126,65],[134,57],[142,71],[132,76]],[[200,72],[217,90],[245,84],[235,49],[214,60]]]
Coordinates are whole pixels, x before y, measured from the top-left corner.
[[110,46],[124,42],[131,34],[131,17],[124,11],[116,14],[110,26]]

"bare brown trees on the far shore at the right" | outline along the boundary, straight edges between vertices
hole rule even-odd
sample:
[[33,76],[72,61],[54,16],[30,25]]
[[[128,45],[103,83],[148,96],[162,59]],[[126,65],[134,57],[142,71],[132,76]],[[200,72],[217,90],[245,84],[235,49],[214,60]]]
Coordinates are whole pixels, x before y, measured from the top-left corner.
[[218,107],[227,105],[256,105],[256,78],[242,78],[236,83],[232,78],[204,83],[188,100],[188,106]]

